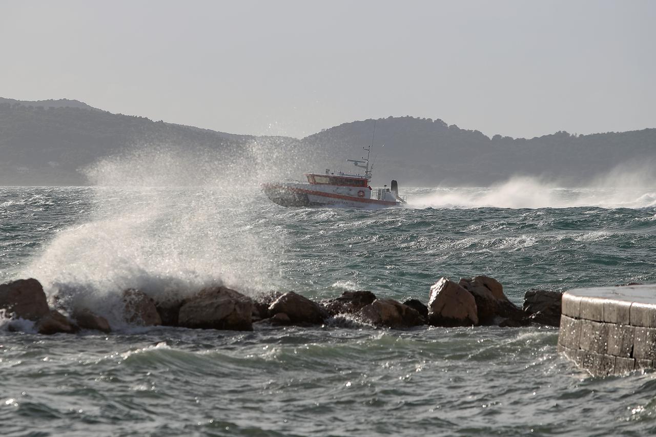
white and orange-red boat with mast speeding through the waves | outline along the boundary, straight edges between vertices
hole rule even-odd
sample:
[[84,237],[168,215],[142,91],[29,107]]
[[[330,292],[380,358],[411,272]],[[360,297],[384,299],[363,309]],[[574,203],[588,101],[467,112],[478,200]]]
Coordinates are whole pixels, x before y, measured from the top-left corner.
[[304,173],[308,182],[273,182],[262,184],[262,190],[272,202],[283,207],[342,207],[385,208],[399,207],[406,203],[399,195],[398,183],[392,180],[390,188],[373,189],[369,185],[373,165],[369,165],[371,146],[363,147],[367,157],[346,159],[355,167],[365,169],[364,175],[347,174],[343,171]]

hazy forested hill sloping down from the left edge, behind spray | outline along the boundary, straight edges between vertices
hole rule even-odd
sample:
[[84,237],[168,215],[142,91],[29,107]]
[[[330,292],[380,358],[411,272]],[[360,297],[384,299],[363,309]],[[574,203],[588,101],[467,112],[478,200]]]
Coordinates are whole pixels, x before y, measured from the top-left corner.
[[112,114],[77,100],[42,102],[0,101],[1,185],[83,185],[81,169],[124,150],[175,144],[232,151],[253,138]]

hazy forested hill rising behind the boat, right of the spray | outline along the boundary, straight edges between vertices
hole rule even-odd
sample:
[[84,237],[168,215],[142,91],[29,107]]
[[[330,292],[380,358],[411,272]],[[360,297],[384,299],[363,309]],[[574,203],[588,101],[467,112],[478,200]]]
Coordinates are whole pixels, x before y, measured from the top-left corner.
[[[304,138],[338,153],[368,146],[373,120],[344,123]],[[512,175],[556,178],[585,184],[619,163],[656,158],[656,129],[572,135],[557,132],[531,139],[460,129],[440,119],[388,117],[376,121],[377,174],[405,185],[487,185]],[[382,147],[384,144],[384,147]]]

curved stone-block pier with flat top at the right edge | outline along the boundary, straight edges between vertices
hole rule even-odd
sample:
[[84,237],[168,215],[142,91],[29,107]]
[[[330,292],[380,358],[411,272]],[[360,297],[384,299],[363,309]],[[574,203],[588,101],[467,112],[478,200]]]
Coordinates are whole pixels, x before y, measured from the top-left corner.
[[654,367],[656,285],[567,291],[558,352],[594,376]]

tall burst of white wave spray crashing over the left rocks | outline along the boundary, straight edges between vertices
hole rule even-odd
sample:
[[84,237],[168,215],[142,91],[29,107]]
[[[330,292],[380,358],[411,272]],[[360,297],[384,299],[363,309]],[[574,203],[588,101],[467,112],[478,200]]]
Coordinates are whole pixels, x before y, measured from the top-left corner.
[[228,155],[158,145],[104,159],[86,170],[89,219],[58,232],[20,276],[113,325],[129,288],[164,301],[211,284],[276,289],[284,243],[274,229],[251,233],[262,220],[258,180],[277,167],[274,149],[250,144]]

